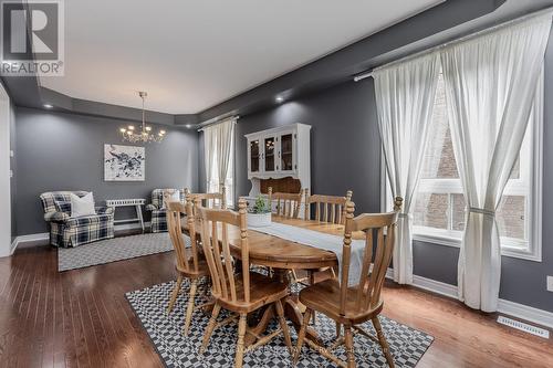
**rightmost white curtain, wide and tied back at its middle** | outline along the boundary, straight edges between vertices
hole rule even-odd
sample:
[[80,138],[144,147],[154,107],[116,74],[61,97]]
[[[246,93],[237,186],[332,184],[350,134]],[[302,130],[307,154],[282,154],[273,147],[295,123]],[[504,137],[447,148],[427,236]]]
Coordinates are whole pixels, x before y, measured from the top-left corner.
[[495,209],[532,111],[552,17],[536,17],[441,51],[448,118],[468,206],[459,298],[494,312],[501,250]]

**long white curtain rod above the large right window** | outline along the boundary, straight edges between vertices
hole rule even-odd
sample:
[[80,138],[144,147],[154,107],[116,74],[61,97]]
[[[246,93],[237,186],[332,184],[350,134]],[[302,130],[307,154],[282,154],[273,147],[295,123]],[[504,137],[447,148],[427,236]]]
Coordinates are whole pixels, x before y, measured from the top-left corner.
[[518,23],[522,23],[522,22],[524,22],[526,20],[530,20],[530,19],[533,19],[533,18],[540,18],[540,17],[545,15],[546,13],[551,13],[551,12],[553,12],[553,7],[550,7],[550,8],[546,8],[546,9],[542,9],[540,11],[536,11],[536,12],[533,12],[533,13],[530,13],[530,14],[525,14],[525,15],[522,15],[522,17],[519,17],[519,18],[515,18],[515,19],[511,19],[511,20],[509,20],[507,22],[492,25],[490,28],[480,30],[478,32],[463,35],[461,38],[448,41],[446,43],[432,46],[430,49],[426,49],[426,50],[416,52],[414,54],[410,54],[410,55],[407,55],[407,56],[404,56],[404,57],[399,57],[398,60],[394,60],[394,61],[392,61],[392,62],[389,62],[387,64],[374,67],[371,71],[363,72],[361,74],[355,75],[354,78],[353,78],[353,81],[354,82],[363,81],[365,78],[368,78],[368,77],[373,76],[373,73],[376,72],[376,71],[378,71],[378,70],[380,70],[380,69],[388,67],[388,66],[395,65],[395,64],[399,64],[399,63],[406,62],[408,60],[422,56],[425,54],[430,54],[432,52],[436,52],[438,50],[445,49],[447,46],[450,46],[450,45],[453,45],[453,44],[459,44],[459,43],[472,40],[473,38],[477,38],[477,36],[480,36],[480,35],[487,34],[487,33],[492,33],[492,32],[494,32],[494,31],[497,31],[499,29],[507,28],[509,25],[514,25],[514,24],[518,24]]

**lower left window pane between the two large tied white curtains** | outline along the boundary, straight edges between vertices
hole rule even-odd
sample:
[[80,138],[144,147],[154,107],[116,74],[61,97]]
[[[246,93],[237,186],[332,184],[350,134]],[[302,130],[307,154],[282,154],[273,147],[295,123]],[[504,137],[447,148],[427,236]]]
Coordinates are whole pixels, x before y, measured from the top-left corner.
[[418,193],[414,224],[437,229],[448,228],[448,194]]

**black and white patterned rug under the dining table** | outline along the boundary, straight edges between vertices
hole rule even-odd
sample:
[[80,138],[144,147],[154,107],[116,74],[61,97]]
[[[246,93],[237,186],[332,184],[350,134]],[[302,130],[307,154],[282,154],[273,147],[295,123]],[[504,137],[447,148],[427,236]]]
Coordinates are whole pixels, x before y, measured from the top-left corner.
[[[167,367],[232,367],[237,343],[237,326],[229,324],[213,332],[210,345],[204,355],[198,354],[209,317],[196,311],[188,337],[182,335],[187,296],[181,292],[171,314],[166,308],[174,282],[155,285],[140,291],[129,292],[127,297],[144,328],[154,343],[161,360]],[[184,286],[185,290],[188,285]],[[202,303],[198,297],[197,303]],[[219,317],[222,319],[225,316]],[[434,340],[434,337],[380,316],[380,323],[392,348],[396,367],[415,367]],[[291,325],[290,325],[291,326]],[[365,329],[374,333],[372,324]],[[276,328],[273,322],[270,326]],[[317,314],[315,329],[325,344],[335,338],[335,324],[322,314]],[[296,344],[296,334],[291,326],[292,344]],[[334,351],[345,359],[345,351]],[[358,367],[387,367],[380,347],[372,340],[355,336],[355,359]],[[282,336],[244,355],[244,367],[291,367],[291,356]],[[298,367],[334,367],[332,362],[304,345]]]

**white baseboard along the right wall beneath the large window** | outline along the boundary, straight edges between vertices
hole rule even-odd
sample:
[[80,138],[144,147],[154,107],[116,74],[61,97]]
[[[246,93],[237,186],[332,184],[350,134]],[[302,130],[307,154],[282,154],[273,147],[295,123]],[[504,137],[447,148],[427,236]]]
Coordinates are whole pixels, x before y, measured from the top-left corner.
[[[393,280],[394,271],[388,269],[386,277]],[[428,292],[440,294],[457,299],[457,286],[446,284],[436,280],[413,275],[413,285]],[[514,303],[511,301],[499,299],[498,313],[505,314],[519,319],[532,322],[549,328],[553,328],[553,313],[538,309],[528,305]]]

